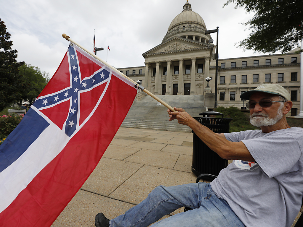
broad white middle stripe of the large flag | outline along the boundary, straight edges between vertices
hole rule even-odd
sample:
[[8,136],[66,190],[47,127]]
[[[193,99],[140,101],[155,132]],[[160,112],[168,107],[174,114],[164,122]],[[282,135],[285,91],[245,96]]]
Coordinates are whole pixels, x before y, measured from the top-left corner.
[[0,173],[0,212],[16,199],[32,179],[62,151],[69,140],[70,137],[52,123],[14,163]]

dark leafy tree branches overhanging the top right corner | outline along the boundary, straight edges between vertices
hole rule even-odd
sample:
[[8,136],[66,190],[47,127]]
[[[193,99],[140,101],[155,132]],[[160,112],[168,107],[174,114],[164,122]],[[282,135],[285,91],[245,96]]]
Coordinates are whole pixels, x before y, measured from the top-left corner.
[[244,23],[251,34],[238,43],[239,47],[263,53],[285,53],[302,41],[302,0],[227,0],[224,6],[231,2],[236,3],[235,8],[255,12],[253,18]]

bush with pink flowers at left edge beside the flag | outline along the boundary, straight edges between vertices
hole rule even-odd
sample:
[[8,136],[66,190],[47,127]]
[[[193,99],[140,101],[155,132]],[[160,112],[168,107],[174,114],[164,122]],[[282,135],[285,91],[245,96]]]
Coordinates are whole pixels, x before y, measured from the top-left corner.
[[9,135],[9,133],[11,133],[15,129],[15,127],[17,127],[23,117],[23,114],[0,116],[0,144],[2,144],[5,138]]

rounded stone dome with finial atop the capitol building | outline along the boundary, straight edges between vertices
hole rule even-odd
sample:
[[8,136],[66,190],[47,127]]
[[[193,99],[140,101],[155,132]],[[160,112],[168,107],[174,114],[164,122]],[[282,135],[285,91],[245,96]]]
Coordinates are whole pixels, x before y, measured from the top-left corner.
[[[210,35],[205,35],[205,30],[207,29],[203,18],[191,10],[191,4],[187,0],[182,12],[171,21],[162,43],[174,36],[206,42],[211,37]],[[196,37],[197,39],[195,39]]]

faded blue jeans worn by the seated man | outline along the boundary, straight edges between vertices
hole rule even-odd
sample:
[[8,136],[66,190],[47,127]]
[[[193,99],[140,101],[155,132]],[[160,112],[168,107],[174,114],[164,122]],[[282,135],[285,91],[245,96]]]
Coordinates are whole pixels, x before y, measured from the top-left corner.
[[[159,222],[178,208],[193,210],[172,215]],[[179,186],[158,186],[145,200],[109,222],[109,227],[207,226],[245,227],[228,203],[219,199],[209,183],[191,183]]]

